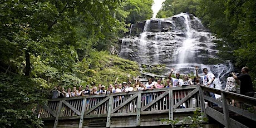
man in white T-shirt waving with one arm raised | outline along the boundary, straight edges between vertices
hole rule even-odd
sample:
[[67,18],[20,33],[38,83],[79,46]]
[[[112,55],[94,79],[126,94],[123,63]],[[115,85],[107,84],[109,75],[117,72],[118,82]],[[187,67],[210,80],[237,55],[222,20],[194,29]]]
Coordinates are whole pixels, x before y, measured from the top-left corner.
[[[213,75],[213,73],[208,73],[208,69],[203,68],[203,72],[204,72],[205,75],[204,76],[199,76],[198,75],[198,68],[199,68],[198,66],[195,66],[196,77],[200,78],[200,80],[203,81],[203,85],[214,88],[213,81],[215,79],[215,76]],[[206,94],[210,95],[210,97],[212,97],[213,99],[216,99],[213,92],[206,92]],[[212,106],[215,107],[215,106],[218,106],[218,105],[212,104]]]

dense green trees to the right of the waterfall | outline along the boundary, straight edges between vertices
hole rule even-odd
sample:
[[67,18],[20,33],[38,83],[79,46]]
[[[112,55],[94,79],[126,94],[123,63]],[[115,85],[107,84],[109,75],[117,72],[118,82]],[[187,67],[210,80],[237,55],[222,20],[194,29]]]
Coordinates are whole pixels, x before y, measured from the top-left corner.
[[[193,13],[221,40],[216,41],[219,57],[231,60],[239,72],[250,69],[256,87],[256,2],[234,0],[166,0],[157,17],[181,12]],[[168,13],[168,14],[166,14]]]

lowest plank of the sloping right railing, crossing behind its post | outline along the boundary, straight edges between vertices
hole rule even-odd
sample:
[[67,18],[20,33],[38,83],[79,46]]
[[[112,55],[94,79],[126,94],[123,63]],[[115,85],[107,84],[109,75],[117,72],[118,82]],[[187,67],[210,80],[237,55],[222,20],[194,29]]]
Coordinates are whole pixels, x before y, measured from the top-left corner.
[[[221,124],[225,125],[224,124],[224,115],[221,114],[219,111],[216,111],[214,110],[213,108],[211,107],[207,107],[205,109],[205,113],[211,117],[213,117],[214,120],[220,122]],[[235,121],[233,119],[230,119],[230,127],[247,127],[243,124],[241,124],[240,122],[238,121]]]

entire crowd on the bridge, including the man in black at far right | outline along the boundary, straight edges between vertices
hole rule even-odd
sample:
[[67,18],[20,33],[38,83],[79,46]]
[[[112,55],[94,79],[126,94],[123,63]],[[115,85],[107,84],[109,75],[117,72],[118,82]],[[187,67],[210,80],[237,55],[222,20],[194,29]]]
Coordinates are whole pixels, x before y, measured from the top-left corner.
[[[154,88],[168,88],[168,87],[176,87],[176,86],[188,86],[188,85],[198,85],[203,84],[205,86],[214,87],[213,81],[215,79],[215,76],[213,73],[208,73],[207,68],[203,68],[204,75],[199,76],[198,75],[199,67],[195,66],[195,72],[196,76],[194,79],[189,78],[188,75],[183,75],[183,78],[180,78],[180,73],[176,73],[175,77],[171,77],[172,73],[174,72],[174,68],[171,68],[171,72],[168,76],[168,79],[166,80],[166,83],[164,81],[164,78],[159,78],[157,81],[154,81],[154,78],[149,78],[146,83],[142,83],[139,80],[139,77],[136,77],[135,84],[132,84],[129,78],[129,82],[122,82],[117,83],[117,79],[114,83],[114,86],[111,84],[105,88],[104,85],[99,84],[98,88],[96,86],[92,86],[90,89],[90,86],[87,85],[85,90],[83,90],[82,86],[78,87],[78,90],[76,87],[73,87],[73,90],[71,91],[71,88],[68,88],[67,91],[65,91],[65,88],[61,88],[61,86],[57,86],[51,90],[53,93],[52,99],[58,98],[58,97],[76,97],[76,96],[88,96],[88,95],[100,95],[100,94],[107,94],[107,93],[119,93],[119,92],[131,92],[131,91],[145,91],[145,90],[152,90]],[[226,91],[232,91],[235,92],[235,81],[240,85],[240,94],[247,95],[247,96],[254,96],[253,91],[253,85],[252,85],[252,79],[250,78],[248,74],[249,68],[243,67],[242,68],[242,74],[239,76],[236,76],[234,72],[230,75],[230,77],[227,78],[227,85],[225,90]],[[207,94],[210,97],[213,97],[215,99],[215,95],[213,92],[207,92]],[[235,104],[235,101],[232,101],[232,105]],[[239,102],[236,102],[237,106],[239,107]],[[213,104],[215,106],[215,104]]]

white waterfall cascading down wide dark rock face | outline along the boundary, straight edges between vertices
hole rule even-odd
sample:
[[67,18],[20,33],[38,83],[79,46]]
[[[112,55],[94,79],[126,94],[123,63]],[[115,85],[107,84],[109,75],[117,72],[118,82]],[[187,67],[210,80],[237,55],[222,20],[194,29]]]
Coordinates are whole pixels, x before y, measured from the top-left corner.
[[217,58],[216,39],[192,14],[139,22],[132,26],[131,35],[123,38],[120,56],[139,65],[164,64],[165,70],[157,75],[167,76],[173,67],[181,74],[195,74],[196,65],[201,68],[199,75],[204,75],[202,69],[207,67],[216,77],[216,87],[221,88],[221,82],[233,70],[232,64],[211,65]]

